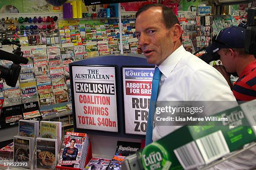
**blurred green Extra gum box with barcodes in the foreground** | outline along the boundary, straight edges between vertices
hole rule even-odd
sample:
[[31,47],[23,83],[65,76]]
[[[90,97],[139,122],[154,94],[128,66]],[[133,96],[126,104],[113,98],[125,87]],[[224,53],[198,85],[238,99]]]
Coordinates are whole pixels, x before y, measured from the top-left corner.
[[140,150],[141,169],[190,170],[256,141],[256,100],[212,116],[223,121],[183,126]]

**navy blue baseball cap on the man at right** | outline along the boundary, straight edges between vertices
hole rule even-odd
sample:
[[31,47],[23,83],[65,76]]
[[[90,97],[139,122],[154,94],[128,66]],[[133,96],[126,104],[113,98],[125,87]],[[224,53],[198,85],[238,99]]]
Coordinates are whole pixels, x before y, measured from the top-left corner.
[[206,47],[207,53],[215,53],[221,48],[244,48],[246,29],[242,27],[228,27],[221,30],[212,38],[212,45]]

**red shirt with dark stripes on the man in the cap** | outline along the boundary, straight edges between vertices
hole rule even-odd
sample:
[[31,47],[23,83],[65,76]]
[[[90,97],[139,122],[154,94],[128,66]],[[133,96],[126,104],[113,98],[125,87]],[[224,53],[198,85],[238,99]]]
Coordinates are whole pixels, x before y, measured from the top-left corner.
[[232,91],[236,100],[250,101],[256,99],[256,60],[243,69]]

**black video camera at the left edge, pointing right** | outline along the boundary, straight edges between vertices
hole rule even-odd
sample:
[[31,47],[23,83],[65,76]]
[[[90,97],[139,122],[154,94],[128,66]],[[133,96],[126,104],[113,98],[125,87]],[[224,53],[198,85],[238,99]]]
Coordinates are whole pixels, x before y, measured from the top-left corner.
[[[0,78],[5,79],[7,85],[15,87],[20,75],[20,63],[27,64],[28,59],[23,57],[23,52],[21,52],[20,44],[11,42],[9,40],[4,40],[5,44],[12,44],[18,46],[16,49],[13,47],[13,53],[0,50],[0,59],[12,61],[13,64],[9,67],[0,65]],[[8,41],[8,42],[6,42]]]

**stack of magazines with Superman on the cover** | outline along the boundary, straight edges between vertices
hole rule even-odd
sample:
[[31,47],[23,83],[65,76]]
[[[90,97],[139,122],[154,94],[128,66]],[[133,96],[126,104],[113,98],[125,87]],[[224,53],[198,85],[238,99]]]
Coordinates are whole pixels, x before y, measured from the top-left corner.
[[58,166],[84,168],[90,136],[86,133],[66,132],[62,142]]

